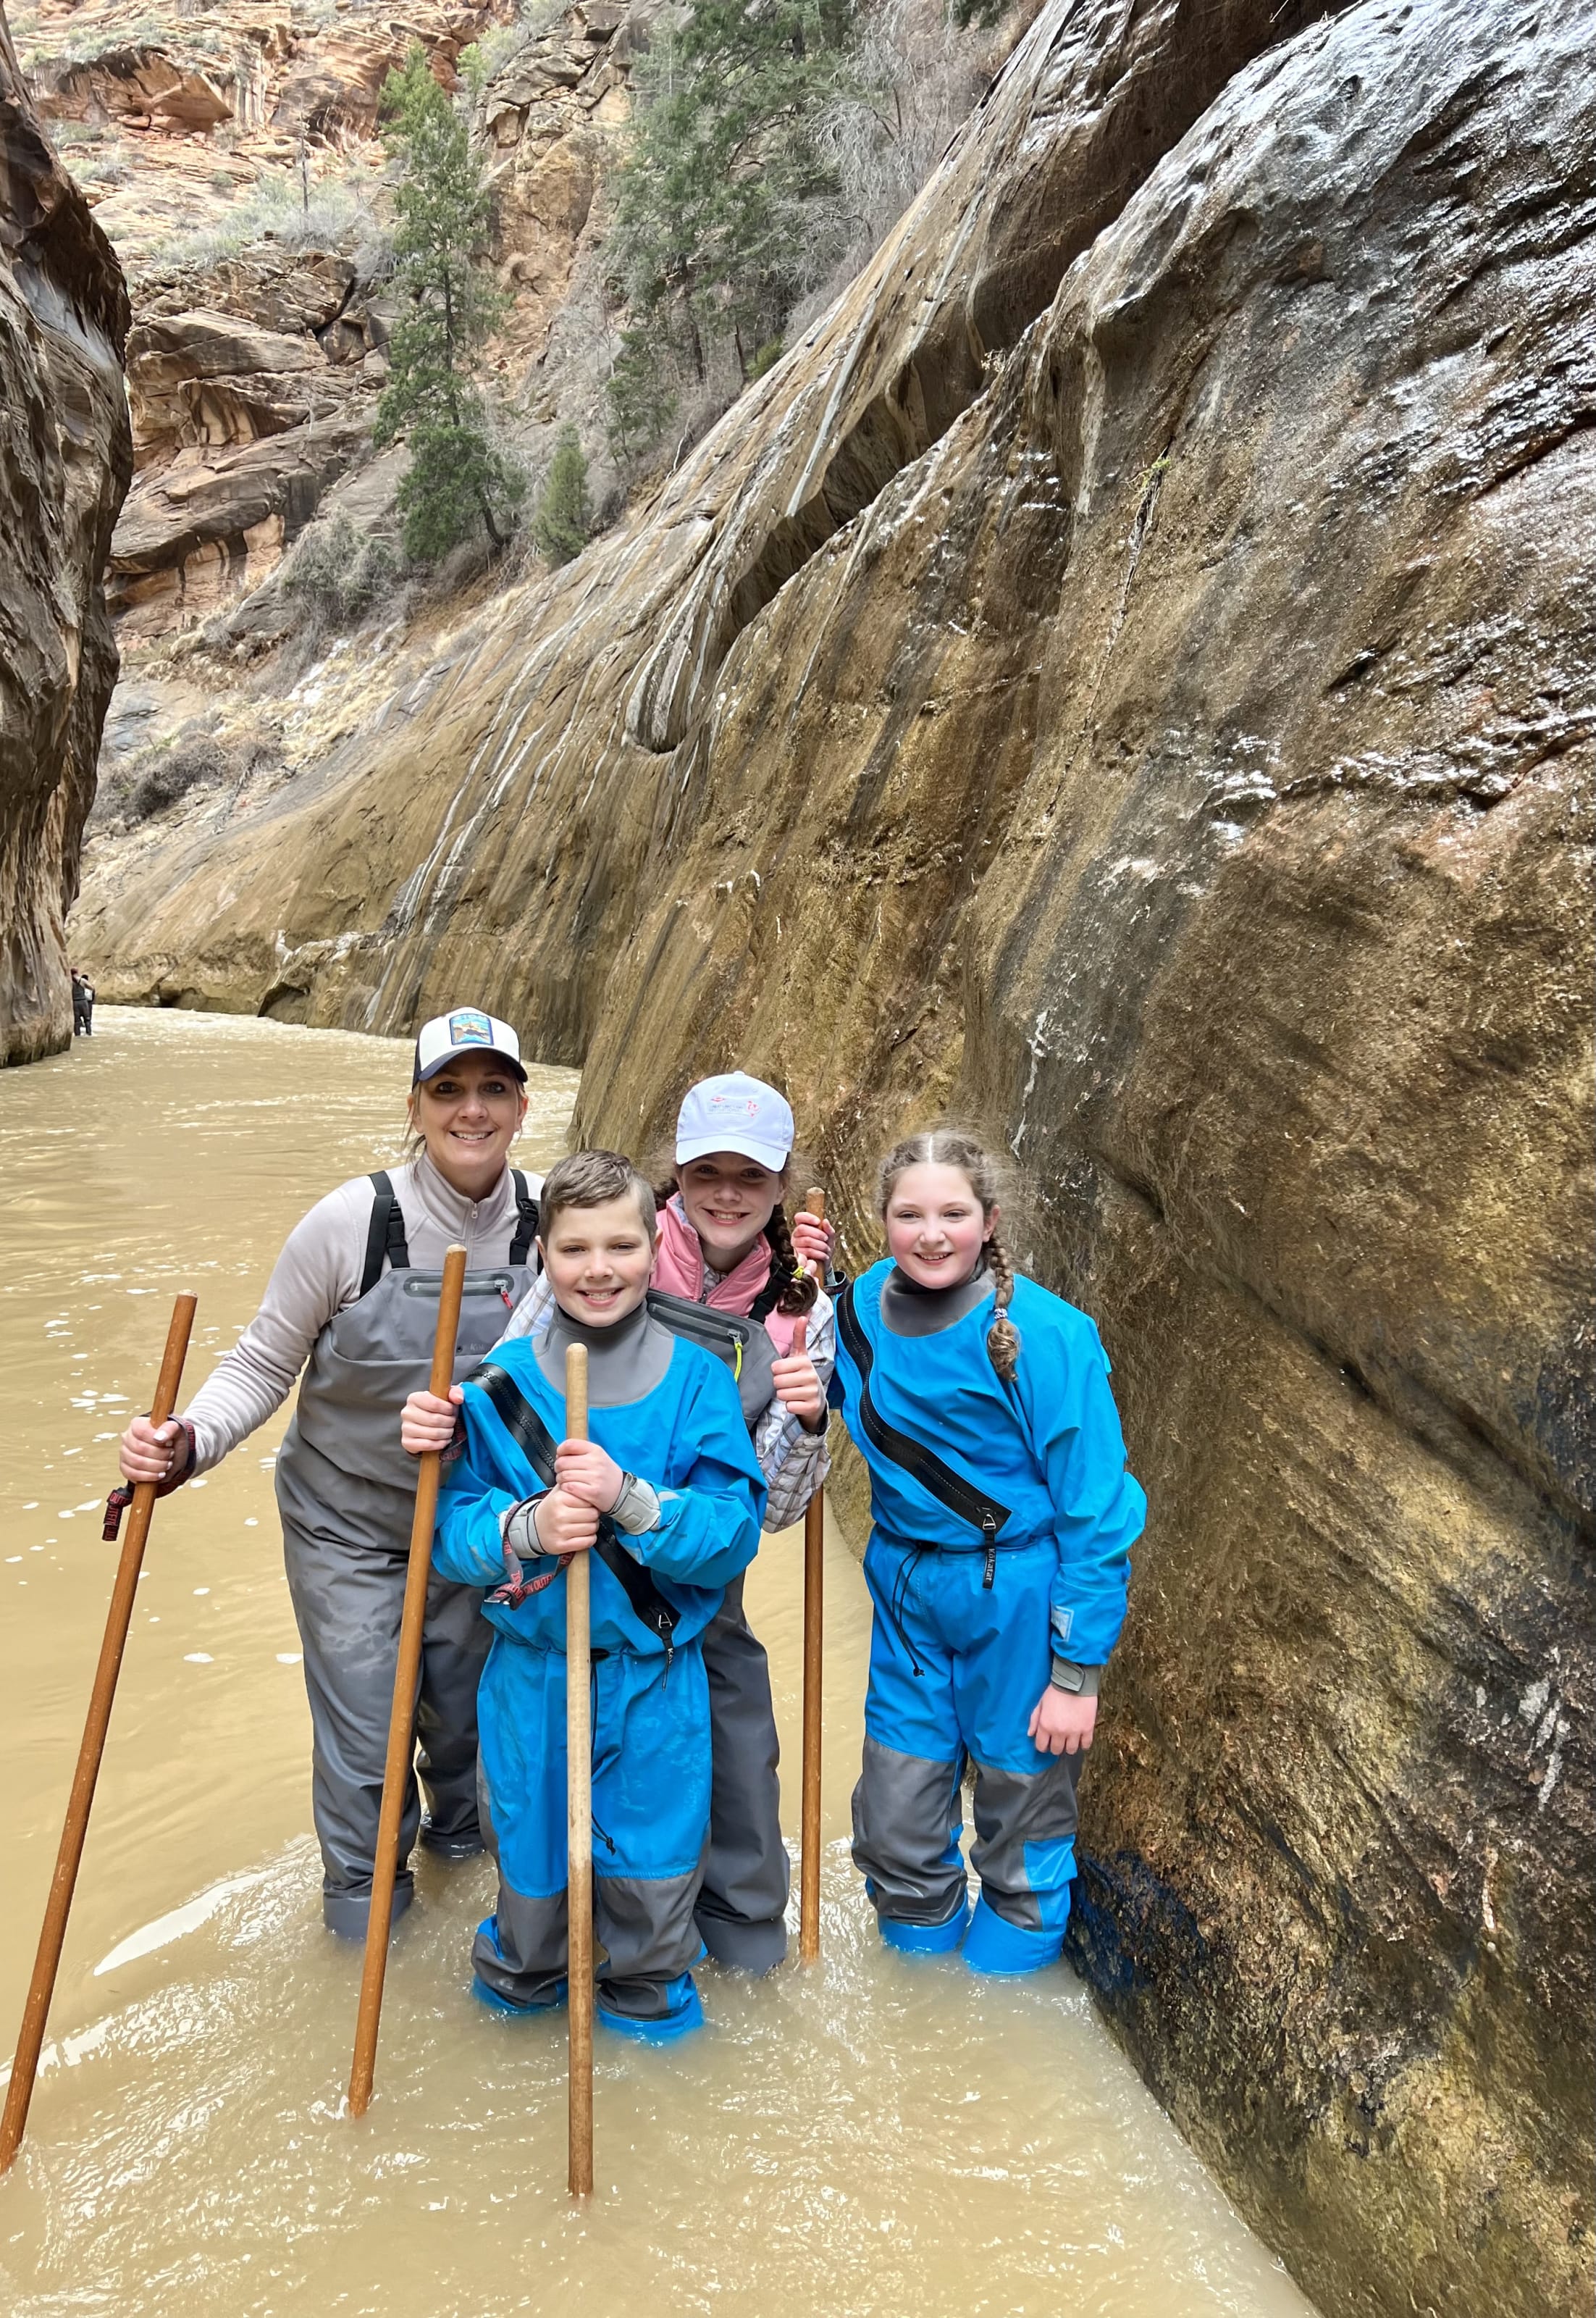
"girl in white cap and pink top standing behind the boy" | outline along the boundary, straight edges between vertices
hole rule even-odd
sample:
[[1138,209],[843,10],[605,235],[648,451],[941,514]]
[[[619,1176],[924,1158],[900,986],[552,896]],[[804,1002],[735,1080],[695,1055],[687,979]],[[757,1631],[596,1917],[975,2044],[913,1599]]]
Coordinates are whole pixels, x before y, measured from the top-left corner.
[[[681,1103],[674,1152],[674,1173],[656,1189],[660,1247],[651,1305],[667,1328],[704,1340],[713,1340],[718,1314],[755,1324],[718,1349],[734,1356],[744,1419],[769,1486],[764,1528],[785,1530],[827,1474],[825,1388],[836,1331],[818,1280],[797,1266],[822,1273],[832,1231],[808,1215],[788,1226],[792,1110],[776,1087],[741,1071],[700,1080]],[[540,1326],[547,1298],[542,1280],[505,1340]],[[795,1354],[799,1317],[808,1321],[808,1347]],[[408,1449],[442,1449],[452,1430],[449,1407],[412,1395]],[[744,1616],[741,1576],[725,1588],[704,1632],[704,1667],[716,1792],[697,1929],[716,1963],[769,1973],[788,1952],[788,1850],[769,1662]]]

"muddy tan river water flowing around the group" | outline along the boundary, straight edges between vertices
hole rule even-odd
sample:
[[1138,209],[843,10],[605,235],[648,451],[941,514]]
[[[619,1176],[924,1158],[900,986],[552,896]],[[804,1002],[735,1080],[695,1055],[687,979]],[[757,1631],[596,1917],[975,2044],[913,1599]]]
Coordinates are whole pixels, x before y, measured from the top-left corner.
[[[0,2044],[21,2017],[116,1548],[114,1437],[148,1405],[171,1296],[190,1388],[290,1224],[396,1157],[408,1045],[100,1008],[0,1073]],[[574,1073],[533,1071],[521,1154]],[[848,1864],[869,1606],[827,1565],[825,1956],[702,1973],[711,2028],[600,2038],[600,2195],[565,2197],[563,2028],[470,2000],[484,1861],[419,1859],[378,2098],[341,2116],[359,1952],[320,1924],[308,1715],[271,1497],[276,1421],[158,1507],[28,2142],[0,2181],[14,2318],[618,2318],[906,2311],[1302,2318],[1066,1970],[975,1984],[883,1952]],[[797,1535],[748,1606],[797,1789]]]

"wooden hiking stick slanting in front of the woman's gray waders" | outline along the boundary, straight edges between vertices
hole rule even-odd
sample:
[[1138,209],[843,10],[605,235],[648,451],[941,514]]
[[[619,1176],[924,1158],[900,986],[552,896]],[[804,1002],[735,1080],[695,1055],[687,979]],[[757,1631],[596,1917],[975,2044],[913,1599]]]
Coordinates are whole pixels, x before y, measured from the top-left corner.
[[[438,1291],[438,1333],[433,1335],[433,1372],[429,1391],[449,1398],[454,1384],[454,1344],[461,1333],[461,1293],[466,1289],[466,1249],[454,1245],[442,1259]],[[378,2026],[382,2021],[382,1977],[387,1973],[387,1938],[394,1926],[394,1878],[398,1875],[398,1822],[405,1815],[410,1762],[415,1755],[415,1692],[422,1678],[422,1627],[426,1625],[426,1581],[433,1569],[433,1525],[438,1521],[438,1451],[422,1456],[410,1518],[410,1567],[405,1569],[405,1606],[398,1616],[398,1667],[394,1669],[394,1711],[387,1722],[387,1764],[382,1766],[382,1813],[378,1817],[378,1854],[371,1861],[371,1915],[366,1917],[366,1968],[361,1970],[361,2005],[354,2019],[354,2063],[350,2068],[350,2116],[371,2107],[371,2079],[378,2068]]]

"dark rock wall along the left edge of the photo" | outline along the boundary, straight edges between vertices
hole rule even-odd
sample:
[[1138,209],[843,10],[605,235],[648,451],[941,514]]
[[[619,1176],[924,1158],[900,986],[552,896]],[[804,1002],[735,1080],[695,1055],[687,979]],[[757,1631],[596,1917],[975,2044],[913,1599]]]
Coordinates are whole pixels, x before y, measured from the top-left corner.
[[56,167],[0,14],[0,1062],[72,1038],[65,913],[116,647],[127,294]]

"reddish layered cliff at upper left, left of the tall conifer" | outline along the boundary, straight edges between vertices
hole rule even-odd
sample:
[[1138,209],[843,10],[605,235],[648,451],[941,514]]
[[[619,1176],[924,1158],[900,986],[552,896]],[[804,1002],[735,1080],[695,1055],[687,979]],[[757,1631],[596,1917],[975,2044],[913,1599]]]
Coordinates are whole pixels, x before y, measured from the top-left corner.
[[239,202],[257,199],[262,169],[278,188],[296,169],[308,206],[352,169],[380,167],[378,100],[408,46],[422,42],[452,81],[459,51],[505,14],[507,0],[429,0],[398,21],[350,0],[329,23],[320,9],[239,0],[185,14],[155,42],[134,0],[39,9],[39,111],[134,292],[139,475],[109,589],[125,644],[257,586],[322,494],[371,454],[387,376],[373,278],[347,253],[301,248],[310,227],[292,209],[273,225],[252,218],[257,239],[232,248]]

